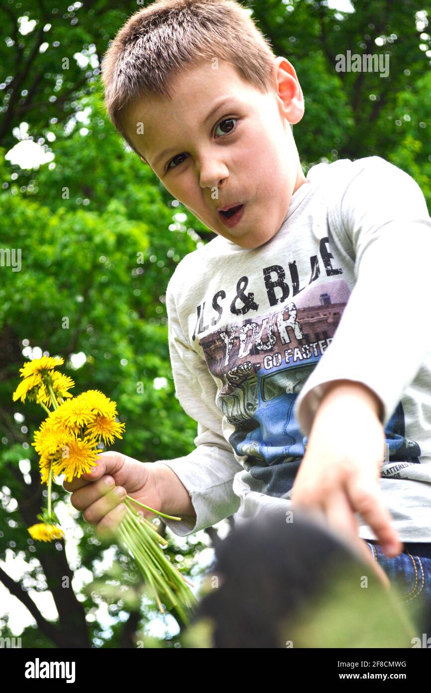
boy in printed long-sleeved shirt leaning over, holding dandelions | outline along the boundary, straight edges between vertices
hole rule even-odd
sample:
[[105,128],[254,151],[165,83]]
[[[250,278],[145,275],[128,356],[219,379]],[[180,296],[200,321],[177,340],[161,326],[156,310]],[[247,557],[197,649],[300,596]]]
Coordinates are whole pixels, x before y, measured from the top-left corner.
[[127,489],[183,516],[166,520],[180,536],[303,507],[369,559],[373,541],[386,556],[401,541],[429,551],[431,220],[419,186],[380,157],[304,176],[295,69],[235,0],[136,12],[102,78],[122,137],[217,237],[183,258],[166,293],[196,449],[154,463],[103,453],[93,475],[64,484],[74,507],[102,534]]

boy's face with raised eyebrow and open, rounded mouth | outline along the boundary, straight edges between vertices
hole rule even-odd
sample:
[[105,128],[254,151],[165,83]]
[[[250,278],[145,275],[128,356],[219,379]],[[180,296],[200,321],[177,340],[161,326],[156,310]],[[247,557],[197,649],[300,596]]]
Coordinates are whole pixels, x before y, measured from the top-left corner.
[[[262,94],[232,64],[203,62],[172,87],[172,100],[140,98],[124,109],[127,137],[167,191],[212,231],[244,248],[266,243],[305,181],[289,125],[304,114],[295,70],[277,58],[273,89]],[[229,227],[218,210],[236,204],[244,204],[242,215]]]

